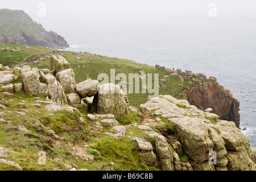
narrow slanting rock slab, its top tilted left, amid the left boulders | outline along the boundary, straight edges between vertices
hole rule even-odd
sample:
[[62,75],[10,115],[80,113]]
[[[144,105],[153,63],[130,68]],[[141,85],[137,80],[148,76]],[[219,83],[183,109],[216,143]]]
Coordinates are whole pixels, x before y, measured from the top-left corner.
[[44,77],[46,78],[48,93],[52,96],[51,100],[57,104],[68,104],[67,97],[60,82],[51,74],[46,74]]

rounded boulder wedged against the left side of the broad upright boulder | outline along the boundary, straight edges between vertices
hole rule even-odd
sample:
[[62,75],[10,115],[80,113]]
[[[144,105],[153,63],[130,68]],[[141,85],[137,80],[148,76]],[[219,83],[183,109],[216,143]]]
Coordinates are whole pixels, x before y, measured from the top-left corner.
[[76,84],[76,92],[81,96],[84,97],[92,97],[98,93],[98,80],[85,80]]

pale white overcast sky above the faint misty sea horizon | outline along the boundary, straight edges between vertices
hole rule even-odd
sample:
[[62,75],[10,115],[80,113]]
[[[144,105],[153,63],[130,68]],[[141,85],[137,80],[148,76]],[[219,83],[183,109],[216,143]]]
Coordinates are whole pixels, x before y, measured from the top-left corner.
[[0,8],[22,9],[34,16],[39,3],[51,14],[203,12],[209,3],[216,3],[218,11],[256,11],[255,0],[13,0],[2,1]]

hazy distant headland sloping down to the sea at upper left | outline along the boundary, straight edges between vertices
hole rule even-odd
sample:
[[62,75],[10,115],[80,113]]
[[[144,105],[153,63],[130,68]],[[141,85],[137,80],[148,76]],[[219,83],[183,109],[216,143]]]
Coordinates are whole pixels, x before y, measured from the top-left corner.
[[50,48],[69,47],[66,40],[53,31],[46,31],[22,10],[0,10],[0,42]]

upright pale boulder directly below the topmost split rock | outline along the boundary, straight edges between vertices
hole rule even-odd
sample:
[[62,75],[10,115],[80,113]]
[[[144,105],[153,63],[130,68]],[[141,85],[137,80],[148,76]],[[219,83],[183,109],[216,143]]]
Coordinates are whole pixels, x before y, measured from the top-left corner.
[[56,74],[57,81],[60,82],[61,86],[64,89],[65,93],[74,93],[75,92],[75,74],[73,69],[65,69]]

